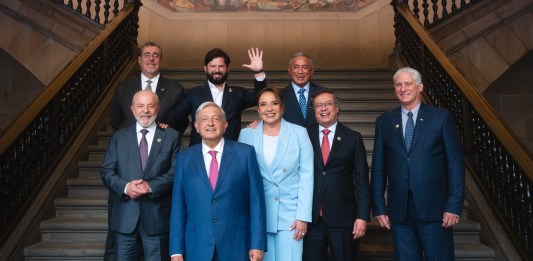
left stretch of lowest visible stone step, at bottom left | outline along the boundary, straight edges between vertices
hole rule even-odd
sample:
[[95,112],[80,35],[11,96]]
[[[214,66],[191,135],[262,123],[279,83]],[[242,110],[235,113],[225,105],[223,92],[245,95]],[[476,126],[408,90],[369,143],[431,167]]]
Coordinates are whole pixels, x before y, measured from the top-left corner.
[[102,260],[105,242],[39,242],[24,249],[25,260]]

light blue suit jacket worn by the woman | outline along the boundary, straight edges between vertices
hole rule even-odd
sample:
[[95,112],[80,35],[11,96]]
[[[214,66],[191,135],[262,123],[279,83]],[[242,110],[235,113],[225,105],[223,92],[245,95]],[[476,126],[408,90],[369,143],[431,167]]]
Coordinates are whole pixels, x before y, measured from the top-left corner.
[[240,142],[253,145],[265,188],[267,232],[289,230],[295,220],[311,222],[313,148],[304,128],[281,120],[278,147],[270,165],[263,153],[263,122],[241,132]]

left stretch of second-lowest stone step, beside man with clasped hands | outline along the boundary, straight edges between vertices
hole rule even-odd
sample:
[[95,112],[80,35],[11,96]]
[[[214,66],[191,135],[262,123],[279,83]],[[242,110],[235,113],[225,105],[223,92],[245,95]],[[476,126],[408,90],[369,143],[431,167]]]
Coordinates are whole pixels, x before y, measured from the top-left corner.
[[43,242],[105,242],[107,217],[57,217],[41,222]]

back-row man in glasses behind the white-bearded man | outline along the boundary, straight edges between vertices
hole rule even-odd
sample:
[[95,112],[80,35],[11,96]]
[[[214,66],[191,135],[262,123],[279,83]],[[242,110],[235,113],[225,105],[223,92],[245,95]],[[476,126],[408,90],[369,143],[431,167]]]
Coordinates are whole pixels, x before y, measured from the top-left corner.
[[137,61],[141,67],[141,75],[125,81],[117,86],[111,102],[111,127],[118,130],[131,126],[135,118],[131,114],[130,105],[133,95],[148,87],[159,97],[161,109],[156,122],[167,123],[168,113],[176,107],[184,96],[180,83],[161,76],[159,66],[163,61],[163,51],[154,42],[147,42],[140,48]]

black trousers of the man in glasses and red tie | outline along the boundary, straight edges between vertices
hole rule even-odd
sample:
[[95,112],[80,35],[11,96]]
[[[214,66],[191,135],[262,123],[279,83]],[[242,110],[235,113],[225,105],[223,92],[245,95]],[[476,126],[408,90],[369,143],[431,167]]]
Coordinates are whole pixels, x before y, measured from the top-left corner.
[[353,239],[353,227],[330,227],[322,218],[307,227],[304,237],[304,261],[327,261],[328,246],[334,261],[353,261],[357,259],[359,239]]

